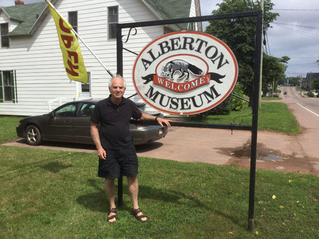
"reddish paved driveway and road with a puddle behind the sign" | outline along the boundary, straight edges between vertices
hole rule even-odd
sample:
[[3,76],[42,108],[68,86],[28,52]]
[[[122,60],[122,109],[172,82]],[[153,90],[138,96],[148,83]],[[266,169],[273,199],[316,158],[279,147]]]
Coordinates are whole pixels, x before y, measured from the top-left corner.
[[[298,97],[292,88],[287,88],[287,91],[289,94],[281,95],[283,99],[276,102],[288,105],[302,126],[303,134],[288,136],[283,133],[258,131],[259,157],[256,167],[319,176],[319,116],[304,108],[309,107],[311,111],[318,112],[316,107],[311,105],[319,105],[319,98],[303,99]],[[250,131],[171,127],[165,138],[136,146],[136,152],[139,157],[216,165],[236,164],[238,167],[249,168],[250,143]],[[32,147],[21,139],[5,144]],[[36,147],[96,153],[93,145],[47,142]]]

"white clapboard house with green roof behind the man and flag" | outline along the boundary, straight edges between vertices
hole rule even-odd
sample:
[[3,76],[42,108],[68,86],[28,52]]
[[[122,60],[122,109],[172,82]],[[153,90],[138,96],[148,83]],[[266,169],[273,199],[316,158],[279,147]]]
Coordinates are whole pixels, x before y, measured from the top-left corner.
[[[13,1],[13,0],[12,0]],[[116,23],[200,16],[199,0],[51,0],[80,37],[116,73]],[[87,85],[67,78],[53,18],[45,1],[0,7],[0,115],[39,115],[62,102],[108,96],[110,76],[80,42]],[[136,28],[124,48],[139,51],[162,34],[202,30],[201,23]],[[128,34],[129,29],[123,31]],[[125,96],[135,94],[132,67],[136,56],[123,52]],[[135,102],[141,102],[134,96]]]

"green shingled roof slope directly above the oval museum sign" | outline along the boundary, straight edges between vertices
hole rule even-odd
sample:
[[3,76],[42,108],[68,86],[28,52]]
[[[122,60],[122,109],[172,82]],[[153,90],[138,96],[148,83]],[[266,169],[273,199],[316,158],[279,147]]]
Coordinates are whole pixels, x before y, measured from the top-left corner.
[[[191,0],[142,0],[160,20],[188,18]],[[178,9],[178,11],[177,11]],[[187,29],[187,24],[170,25],[173,30]]]

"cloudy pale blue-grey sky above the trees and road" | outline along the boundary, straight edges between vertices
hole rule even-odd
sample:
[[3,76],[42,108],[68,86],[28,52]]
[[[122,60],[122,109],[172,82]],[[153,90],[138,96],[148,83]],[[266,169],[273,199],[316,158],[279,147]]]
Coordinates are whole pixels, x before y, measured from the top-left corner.
[[[23,0],[25,4],[43,0]],[[253,0],[256,2],[257,0]],[[200,0],[202,16],[211,15],[222,0]],[[266,32],[267,53],[288,56],[286,76],[306,77],[307,72],[319,72],[319,0],[272,0],[272,12],[280,16]],[[14,0],[0,0],[0,6],[14,5]],[[286,9],[286,10],[282,10]],[[203,23],[204,29],[208,23]],[[268,48],[269,46],[269,48]]]

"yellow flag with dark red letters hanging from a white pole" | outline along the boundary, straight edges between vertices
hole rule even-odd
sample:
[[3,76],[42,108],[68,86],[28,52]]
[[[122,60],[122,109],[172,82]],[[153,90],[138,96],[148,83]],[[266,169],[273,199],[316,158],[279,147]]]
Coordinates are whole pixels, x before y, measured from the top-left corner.
[[80,81],[86,84],[87,72],[78,39],[71,30],[72,25],[65,21],[49,0],[47,0],[47,3],[49,4],[55,22],[66,74],[71,80]]

